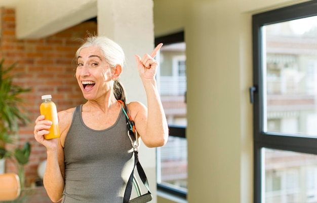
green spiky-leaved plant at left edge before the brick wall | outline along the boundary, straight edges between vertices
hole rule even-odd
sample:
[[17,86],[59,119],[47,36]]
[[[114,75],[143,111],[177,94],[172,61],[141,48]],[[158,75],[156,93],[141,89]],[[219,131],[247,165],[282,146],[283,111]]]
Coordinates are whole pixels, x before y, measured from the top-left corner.
[[[17,159],[15,154],[19,152],[17,150],[12,153],[8,152],[6,144],[17,141],[15,138],[19,130],[19,124],[26,124],[30,120],[25,113],[26,110],[23,108],[21,94],[29,92],[31,89],[23,88],[13,83],[13,79],[19,76],[11,73],[15,65],[16,63],[5,68],[4,59],[0,61],[0,159],[13,155]],[[17,149],[19,150],[20,147],[17,147]],[[26,146],[22,150],[30,150],[30,146]],[[27,154],[28,160],[29,152],[25,154]],[[20,164],[19,159],[17,159],[17,162]],[[24,160],[23,165],[26,163]]]

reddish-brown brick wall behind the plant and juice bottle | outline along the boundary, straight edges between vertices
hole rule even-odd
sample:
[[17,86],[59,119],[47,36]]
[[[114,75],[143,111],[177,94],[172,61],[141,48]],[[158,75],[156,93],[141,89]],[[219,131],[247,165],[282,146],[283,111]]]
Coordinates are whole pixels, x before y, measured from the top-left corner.
[[[17,62],[14,72],[21,73],[15,83],[31,88],[25,93],[25,107],[32,120],[26,126],[20,126],[19,142],[29,141],[32,145],[30,161],[25,166],[26,185],[37,179],[37,166],[46,159],[46,149],[33,137],[34,120],[39,115],[41,96],[51,94],[57,110],[64,110],[84,103],[82,92],[74,77],[74,55],[80,40],[87,32],[97,33],[96,22],[87,21],[64,31],[40,39],[17,39],[15,37],[15,10],[0,9],[0,59],[5,65]],[[14,160],[6,161],[6,172],[17,172]]]

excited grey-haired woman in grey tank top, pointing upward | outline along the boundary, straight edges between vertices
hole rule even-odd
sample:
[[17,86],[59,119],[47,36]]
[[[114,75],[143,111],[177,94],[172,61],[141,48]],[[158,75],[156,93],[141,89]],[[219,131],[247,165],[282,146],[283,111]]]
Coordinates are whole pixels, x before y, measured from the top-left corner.
[[[148,108],[140,102],[127,104],[139,138],[147,147],[163,146],[168,139],[155,80],[154,56],[161,47],[143,58],[135,55]],[[34,137],[47,148],[44,186],[54,202],[122,203],[134,167],[126,117],[117,101],[126,100],[118,81],[125,54],[109,38],[89,36],[76,52],[76,63],[75,76],[87,102],[58,112],[58,139],[44,138],[52,124],[44,115],[35,120]]]

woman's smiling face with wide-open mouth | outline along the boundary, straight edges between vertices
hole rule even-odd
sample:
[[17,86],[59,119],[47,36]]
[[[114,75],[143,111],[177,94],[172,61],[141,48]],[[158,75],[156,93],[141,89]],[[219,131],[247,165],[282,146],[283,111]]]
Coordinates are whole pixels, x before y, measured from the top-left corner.
[[99,49],[88,47],[81,50],[77,58],[76,78],[87,100],[103,99],[112,94],[111,68]]

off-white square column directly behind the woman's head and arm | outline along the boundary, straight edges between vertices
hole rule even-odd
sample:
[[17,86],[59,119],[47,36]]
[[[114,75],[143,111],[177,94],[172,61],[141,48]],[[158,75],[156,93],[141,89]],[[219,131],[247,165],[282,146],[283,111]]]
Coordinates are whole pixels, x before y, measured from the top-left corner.
[[[114,40],[126,54],[126,66],[120,79],[126,90],[127,102],[140,101],[147,105],[134,55],[143,57],[154,49],[153,1],[98,0],[97,9],[98,35]],[[156,202],[155,160],[155,149],[141,143],[140,163],[153,194],[151,202]]]

